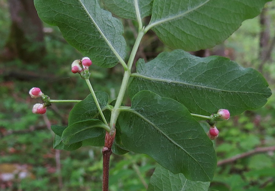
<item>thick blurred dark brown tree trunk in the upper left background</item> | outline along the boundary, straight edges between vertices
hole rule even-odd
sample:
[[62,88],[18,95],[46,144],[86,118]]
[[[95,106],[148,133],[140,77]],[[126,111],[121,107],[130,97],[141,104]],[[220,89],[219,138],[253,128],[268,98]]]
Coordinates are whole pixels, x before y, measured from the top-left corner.
[[45,54],[42,22],[33,0],[9,0],[11,28],[4,58],[34,62]]

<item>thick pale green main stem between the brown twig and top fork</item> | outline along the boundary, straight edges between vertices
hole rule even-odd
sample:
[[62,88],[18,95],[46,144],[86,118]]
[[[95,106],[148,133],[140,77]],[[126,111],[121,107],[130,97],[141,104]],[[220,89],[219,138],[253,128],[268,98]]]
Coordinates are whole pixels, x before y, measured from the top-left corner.
[[136,53],[138,51],[138,46],[141,42],[141,39],[144,35],[144,31],[141,30],[138,32],[138,36],[137,36],[137,39],[135,41],[135,44],[133,46],[133,49],[132,49],[132,52],[130,54],[130,57],[129,57],[129,61],[128,61],[128,64],[127,64],[127,67],[129,70],[125,70],[124,72],[124,75],[123,75],[123,79],[122,79],[122,83],[121,83],[121,86],[120,86],[120,90],[119,90],[119,94],[117,96],[117,99],[116,99],[116,104],[114,106],[114,108],[112,109],[112,112],[111,112],[111,120],[110,120],[110,127],[112,127],[113,124],[116,124],[116,120],[119,116],[119,107],[121,106],[121,103],[123,101],[123,97],[124,97],[124,94],[125,94],[125,91],[126,91],[126,88],[127,88],[127,84],[128,84],[128,81],[129,81],[129,78],[130,78],[130,75],[131,75],[131,68],[132,68],[132,65],[133,65],[133,62],[134,62],[134,58],[136,56]]

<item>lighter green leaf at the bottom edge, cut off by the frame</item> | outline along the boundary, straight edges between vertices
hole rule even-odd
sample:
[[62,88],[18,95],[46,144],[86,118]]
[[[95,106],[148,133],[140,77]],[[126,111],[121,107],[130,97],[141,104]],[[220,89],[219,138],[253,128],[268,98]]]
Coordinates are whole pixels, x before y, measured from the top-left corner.
[[182,173],[172,172],[158,165],[151,176],[147,191],[207,191],[210,182],[191,181]]

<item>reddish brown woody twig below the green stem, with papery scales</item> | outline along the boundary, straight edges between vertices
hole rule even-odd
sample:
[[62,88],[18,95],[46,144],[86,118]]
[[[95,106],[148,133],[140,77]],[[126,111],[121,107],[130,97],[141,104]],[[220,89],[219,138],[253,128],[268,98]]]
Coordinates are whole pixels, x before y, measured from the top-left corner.
[[109,167],[110,157],[112,154],[112,144],[116,136],[115,124],[112,126],[110,134],[106,132],[105,146],[102,149],[103,155],[103,178],[102,178],[102,191],[108,191],[109,188]]

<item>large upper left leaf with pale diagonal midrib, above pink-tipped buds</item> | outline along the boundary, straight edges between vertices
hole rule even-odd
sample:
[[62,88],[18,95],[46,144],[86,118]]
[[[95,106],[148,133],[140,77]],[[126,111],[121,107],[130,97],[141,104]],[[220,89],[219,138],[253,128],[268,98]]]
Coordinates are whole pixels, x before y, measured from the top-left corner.
[[126,56],[123,25],[97,0],[35,0],[39,17],[58,26],[68,43],[94,64],[113,67]]

